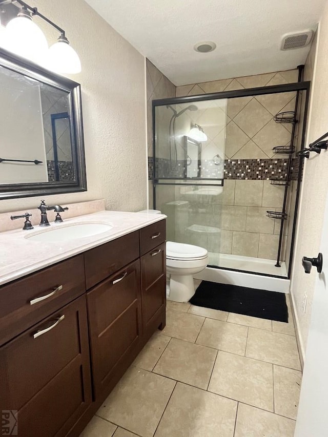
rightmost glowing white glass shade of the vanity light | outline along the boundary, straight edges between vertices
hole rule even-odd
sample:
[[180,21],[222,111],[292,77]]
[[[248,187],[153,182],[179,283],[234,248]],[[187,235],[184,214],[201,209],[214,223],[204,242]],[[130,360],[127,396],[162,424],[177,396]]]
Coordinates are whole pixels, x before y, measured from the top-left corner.
[[76,74],[81,71],[81,62],[66,41],[57,41],[49,48],[47,68],[55,73]]

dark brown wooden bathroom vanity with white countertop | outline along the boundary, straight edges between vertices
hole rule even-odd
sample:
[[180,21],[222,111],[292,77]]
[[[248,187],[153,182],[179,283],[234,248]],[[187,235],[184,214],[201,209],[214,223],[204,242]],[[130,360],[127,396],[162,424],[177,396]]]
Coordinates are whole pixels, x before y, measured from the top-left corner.
[[29,247],[24,267],[22,254],[0,265],[0,409],[18,411],[20,437],[78,436],[165,327],[165,216],[101,212],[83,220],[109,220],[112,229],[65,249],[25,238],[39,230],[1,234],[4,247],[14,237],[12,252]]

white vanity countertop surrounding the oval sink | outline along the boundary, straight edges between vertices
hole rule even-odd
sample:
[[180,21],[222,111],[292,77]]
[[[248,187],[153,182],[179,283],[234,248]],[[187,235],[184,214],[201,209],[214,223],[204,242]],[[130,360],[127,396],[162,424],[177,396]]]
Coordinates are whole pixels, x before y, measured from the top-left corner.
[[[30,231],[19,229],[2,232],[0,233],[0,285],[88,251],[93,247],[115,240],[122,235],[137,231],[165,218],[166,216],[162,214],[100,211],[66,220],[64,218],[63,223],[51,223],[51,227],[47,228],[35,226]],[[81,222],[108,223],[113,227],[104,233],[91,237],[76,238],[65,243],[46,243],[25,238],[27,235],[38,234],[54,227]]]

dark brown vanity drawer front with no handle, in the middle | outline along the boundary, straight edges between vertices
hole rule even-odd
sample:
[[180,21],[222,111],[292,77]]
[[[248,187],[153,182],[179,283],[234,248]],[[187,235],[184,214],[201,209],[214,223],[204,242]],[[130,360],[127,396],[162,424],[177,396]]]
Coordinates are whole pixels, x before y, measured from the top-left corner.
[[95,247],[85,253],[87,289],[139,258],[139,232]]

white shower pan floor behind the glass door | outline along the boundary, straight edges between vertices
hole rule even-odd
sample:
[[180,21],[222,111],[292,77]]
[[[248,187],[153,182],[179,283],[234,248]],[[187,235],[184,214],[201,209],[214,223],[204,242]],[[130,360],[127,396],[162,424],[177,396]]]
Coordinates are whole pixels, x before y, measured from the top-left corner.
[[287,278],[285,262],[280,263],[281,267],[275,267],[276,262],[277,260],[209,252],[209,265]]

